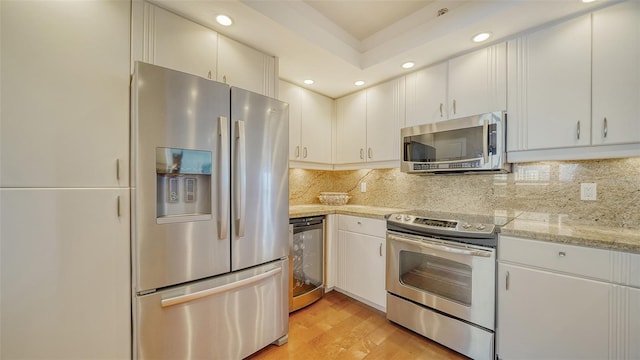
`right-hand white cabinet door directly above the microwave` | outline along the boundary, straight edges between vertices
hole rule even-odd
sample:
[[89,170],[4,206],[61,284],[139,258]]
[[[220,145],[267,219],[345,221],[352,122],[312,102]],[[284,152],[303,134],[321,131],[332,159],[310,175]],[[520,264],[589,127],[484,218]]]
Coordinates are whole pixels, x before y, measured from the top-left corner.
[[505,110],[506,61],[505,43],[449,60],[449,118]]

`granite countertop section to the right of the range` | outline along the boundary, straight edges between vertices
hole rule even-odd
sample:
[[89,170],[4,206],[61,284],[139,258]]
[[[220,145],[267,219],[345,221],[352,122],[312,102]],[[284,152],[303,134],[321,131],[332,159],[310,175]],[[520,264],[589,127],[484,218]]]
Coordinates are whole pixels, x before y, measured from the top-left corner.
[[503,226],[501,235],[640,253],[640,230],[579,224],[569,215],[523,212]]

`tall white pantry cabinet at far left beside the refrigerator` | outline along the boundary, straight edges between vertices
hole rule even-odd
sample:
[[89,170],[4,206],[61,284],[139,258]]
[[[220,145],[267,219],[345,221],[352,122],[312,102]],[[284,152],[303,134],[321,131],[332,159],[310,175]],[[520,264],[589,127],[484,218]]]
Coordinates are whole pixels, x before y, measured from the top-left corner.
[[0,358],[128,359],[127,1],[1,1]]

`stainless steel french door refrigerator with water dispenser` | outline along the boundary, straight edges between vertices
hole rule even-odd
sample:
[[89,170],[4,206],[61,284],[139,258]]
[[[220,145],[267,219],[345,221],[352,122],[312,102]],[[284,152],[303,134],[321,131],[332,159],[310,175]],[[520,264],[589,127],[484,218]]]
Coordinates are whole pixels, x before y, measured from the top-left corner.
[[137,62],[134,358],[240,359],[288,332],[288,105]]

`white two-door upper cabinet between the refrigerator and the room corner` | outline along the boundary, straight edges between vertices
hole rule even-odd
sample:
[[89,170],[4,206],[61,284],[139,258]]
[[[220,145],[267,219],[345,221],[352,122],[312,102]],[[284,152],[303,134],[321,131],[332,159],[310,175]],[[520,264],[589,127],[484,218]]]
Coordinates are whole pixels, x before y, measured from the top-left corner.
[[282,80],[279,93],[289,104],[290,167],[332,168],[333,100]]

